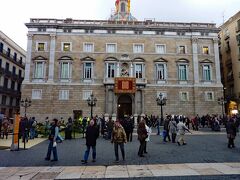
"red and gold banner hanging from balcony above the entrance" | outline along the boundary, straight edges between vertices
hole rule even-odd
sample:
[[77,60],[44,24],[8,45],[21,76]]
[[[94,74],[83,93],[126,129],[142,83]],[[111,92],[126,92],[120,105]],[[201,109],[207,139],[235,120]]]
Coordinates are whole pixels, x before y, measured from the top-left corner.
[[115,78],[115,93],[135,93],[136,92],[136,78],[120,77]]

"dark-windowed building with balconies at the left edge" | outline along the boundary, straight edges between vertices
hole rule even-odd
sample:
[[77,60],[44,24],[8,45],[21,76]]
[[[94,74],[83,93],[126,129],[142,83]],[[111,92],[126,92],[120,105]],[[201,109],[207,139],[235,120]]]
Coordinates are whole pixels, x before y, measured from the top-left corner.
[[8,117],[20,111],[26,51],[0,31],[0,111]]

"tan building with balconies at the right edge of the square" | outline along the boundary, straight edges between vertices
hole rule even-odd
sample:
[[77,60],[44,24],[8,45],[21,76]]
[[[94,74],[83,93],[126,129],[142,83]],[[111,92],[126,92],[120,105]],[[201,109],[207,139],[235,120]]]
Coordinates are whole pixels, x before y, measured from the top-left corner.
[[240,11],[226,21],[219,32],[219,51],[227,113],[231,102],[240,110]]

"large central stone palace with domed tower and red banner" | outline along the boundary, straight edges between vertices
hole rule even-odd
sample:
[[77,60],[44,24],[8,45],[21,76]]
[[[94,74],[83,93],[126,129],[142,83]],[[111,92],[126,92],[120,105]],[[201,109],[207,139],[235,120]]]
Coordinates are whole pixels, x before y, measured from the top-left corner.
[[[30,19],[24,98],[39,120],[74,113],[220,114],[218,32],[212,23],[137,21],[120,0],[109,20]],[[120,82],[120,85],[117,84]],[[119,90],[120,88],[121,90]],[[129,91],[130,89],[130,91]]]

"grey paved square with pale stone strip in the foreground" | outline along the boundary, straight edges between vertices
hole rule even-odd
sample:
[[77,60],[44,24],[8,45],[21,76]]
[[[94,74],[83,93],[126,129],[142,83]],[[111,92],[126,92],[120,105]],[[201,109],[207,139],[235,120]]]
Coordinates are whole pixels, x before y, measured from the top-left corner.
[[[110,141],[99,138],[97,162],[92,163],[90,156],[87,166],[81,164],[86,148],[85,139],[73,139],[58,144],[58,162],[44,160],[48,142],[43,141],[28,150],[1,150],[0,179],[19,179],[20,176],[21,179],[159,179],[158,176],[166,176],[164,179],[240,179],[239,136],[236,138],[235,149],[227,148],[224,132],[211,132],[206,129],[187,135],[186,141],[186,146],[179,147],[170,142],[163,143],[161,136],[153,135],[147,145],[148,154],[140,158],[137,156],[139,142],[137,136],[134,136],[133,142],[125,145],[126,161],[116,164],[113,145]],[[128,176],[123,176],[126,171]],[[104,174],[101,174],[102,172]]]

